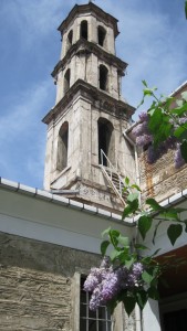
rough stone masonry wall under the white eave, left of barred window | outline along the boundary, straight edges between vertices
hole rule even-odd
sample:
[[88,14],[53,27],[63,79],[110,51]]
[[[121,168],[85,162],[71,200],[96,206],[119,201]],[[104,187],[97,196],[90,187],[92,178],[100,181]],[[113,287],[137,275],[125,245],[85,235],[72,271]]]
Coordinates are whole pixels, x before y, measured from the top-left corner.
[[0,233],[0,331],[71,331],[71,284],[100,256]]

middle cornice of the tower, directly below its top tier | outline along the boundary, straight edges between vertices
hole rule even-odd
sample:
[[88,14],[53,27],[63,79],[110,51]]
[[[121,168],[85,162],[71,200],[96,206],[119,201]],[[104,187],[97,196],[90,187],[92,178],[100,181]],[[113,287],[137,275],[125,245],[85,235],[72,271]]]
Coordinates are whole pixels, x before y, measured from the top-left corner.
[[117,67],[120,74],[124,76],[124,71],[127,67],[127,63],[122,61],[120,57],[104,51],[101,46],[97,44],[94,44],[92,42],[89,42],[85,39],[80,39],[75,44],[71,46],[71,49],[67,51],[65,56],[59,61],[59,63],[55,65],[53,72],[52,72],[52,77],[55,77],[56,74],[59,73],[60,70],[62,70],[65,64],[70,61],[70,58],[73,55],[76,55],[79,53],[92,53],[95,54],[98,58],[104,60],[107,64],[113,64],[114,66]]

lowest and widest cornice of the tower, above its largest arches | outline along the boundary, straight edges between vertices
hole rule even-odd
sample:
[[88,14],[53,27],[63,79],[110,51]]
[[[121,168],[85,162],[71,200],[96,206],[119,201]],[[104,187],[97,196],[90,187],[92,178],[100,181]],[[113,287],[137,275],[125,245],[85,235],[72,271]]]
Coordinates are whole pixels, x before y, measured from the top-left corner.
[[46,114],[42,121],[50,125],[50,122],[58,119],[79,96],[90,99],[95,108],[100,108],[100,110],[107,111],[123,119],[129,119],[135,111],[135,108],[127,103],[121,99],[116,100],[102,89],[82,79],[77,79],[55,107]]

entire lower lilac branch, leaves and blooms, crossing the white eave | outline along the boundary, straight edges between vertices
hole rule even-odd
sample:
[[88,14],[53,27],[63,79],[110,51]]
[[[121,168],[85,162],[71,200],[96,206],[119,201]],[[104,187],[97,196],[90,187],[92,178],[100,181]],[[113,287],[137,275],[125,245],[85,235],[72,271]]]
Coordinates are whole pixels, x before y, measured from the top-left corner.
[[[168,223],[167,235],[172,245],[183,232],[187,232],[187,221],[180,220],[185,210],[163,207],[154,199],[147,199],[146,209],[143,209],[138,200],[141,189],[136,184],[131,184],[128,178],[125,179],[124,191],[128,192],[128,195],[122,218],[125,220],[127,216],[137,218],[143,241],[154,226],[153,243],[155,243],[157,229],[163,222]],[[143,309],[148,298],[157,300],[159,298],[157,286],[162,273],[177,264],[172,265],[169,257],[159,264],[155,258],[159,249],[152,255],[142,255],[142,250],[148,248],[136,241],[129,242],[127,236],[116,229],[107,228],[102,235],[106,236],[101,244],[102,264],[100,268],[91,269],[84,284],[84,289],[92,292],[90,309],[95,310],[101,305],[106,305],[113,312],[116,305],[123,302],[126,312],[131,314],[136,303]],[[108,248],[112,248],[110,254]]]

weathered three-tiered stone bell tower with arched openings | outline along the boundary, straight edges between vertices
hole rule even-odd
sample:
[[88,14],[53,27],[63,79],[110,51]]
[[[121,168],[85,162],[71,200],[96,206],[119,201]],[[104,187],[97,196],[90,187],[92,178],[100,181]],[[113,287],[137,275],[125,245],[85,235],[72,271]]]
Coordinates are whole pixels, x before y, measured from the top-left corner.
[[76,4],[58,30],[62,52],[52,72],[56,100],[43,118],[44,189],[76,189],[73,199],[118,210],[121,178],[135,178],[135,162],[123,136],[134,108],[121,96],[127,64],[115,55],[117,20],[90,2]]

